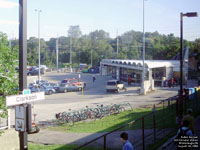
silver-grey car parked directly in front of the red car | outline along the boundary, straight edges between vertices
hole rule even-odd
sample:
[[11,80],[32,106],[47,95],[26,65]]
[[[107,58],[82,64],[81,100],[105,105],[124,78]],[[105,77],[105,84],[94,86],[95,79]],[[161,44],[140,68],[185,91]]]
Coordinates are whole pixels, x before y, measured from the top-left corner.
[[60,93],[66,93],[69,91],[81,91],[84,87],[81,85],[75,85],[72,83],[68,84],[60,84],[58,87],[58,92]]

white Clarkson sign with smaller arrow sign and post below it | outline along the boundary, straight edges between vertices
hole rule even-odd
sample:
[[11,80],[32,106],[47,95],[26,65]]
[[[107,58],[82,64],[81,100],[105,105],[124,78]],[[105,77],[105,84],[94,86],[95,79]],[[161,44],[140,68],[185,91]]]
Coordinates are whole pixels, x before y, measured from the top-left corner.
[[20,150],[27,150],[27,131],[32,130],[32,111],[29,103],[43,100],[44,92],[30,93],[30,90],[23,90],[22,95],[6,97],[6,106],[15,106],[15,130],[19,131]]

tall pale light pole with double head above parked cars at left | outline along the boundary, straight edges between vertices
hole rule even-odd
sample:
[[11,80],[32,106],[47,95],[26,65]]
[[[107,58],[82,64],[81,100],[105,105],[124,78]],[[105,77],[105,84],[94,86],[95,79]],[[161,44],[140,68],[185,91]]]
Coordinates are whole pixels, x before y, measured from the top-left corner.
[[38,12],[38,83],[40,83],[40,13],[41,10],[35,9]]

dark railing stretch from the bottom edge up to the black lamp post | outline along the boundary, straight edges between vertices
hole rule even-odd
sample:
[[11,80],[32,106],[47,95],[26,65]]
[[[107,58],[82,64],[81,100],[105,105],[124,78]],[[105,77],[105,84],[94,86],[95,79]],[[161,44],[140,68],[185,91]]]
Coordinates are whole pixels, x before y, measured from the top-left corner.
[[[128,132],[130,137],[129,140],[133,143],[135,149],[148,149],[155,141],[162,139],[176,130],[176,128],[174,128],[174,126],[176,126],[176,99],[177,97],[175,96],[163,100],[158,104],[151,105],[147,107],[147,110],[150,110],[149,112],[146,112],[146,114],[142,116],[141,114],[138,114],[141,116],[138,119],[130,121],[111,132],[105,133],[78,146],[74,150],[81,150],[82,148],[86,148],[86,146],[96,146],[99,148],[100,146],[95,145],[95,143],[100,143],[103,150],[109,148],[115,149],[111,142],[107,142],[109,141],[108,136],[110,136],[110,138],[120,139],[119,132],[122,131]],[[119,148],[119,146],[117,147]]]

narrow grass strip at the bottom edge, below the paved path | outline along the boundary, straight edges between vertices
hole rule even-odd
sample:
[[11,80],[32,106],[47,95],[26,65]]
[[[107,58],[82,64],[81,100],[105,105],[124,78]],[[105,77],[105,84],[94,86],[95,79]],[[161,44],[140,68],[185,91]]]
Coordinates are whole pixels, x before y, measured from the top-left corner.
[[[42,145],[42,144],[28,144],[29,150],[73,150],[77,147],[77,145]],[[86,146],[82,148],[81,150],[103,150],[103,147],[89,147]],[[107,148],[107,150],[111,150]],[[119,150],[119,149],[113,149],[112,150]]]

